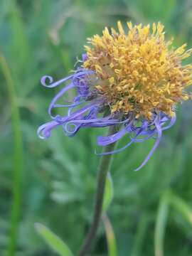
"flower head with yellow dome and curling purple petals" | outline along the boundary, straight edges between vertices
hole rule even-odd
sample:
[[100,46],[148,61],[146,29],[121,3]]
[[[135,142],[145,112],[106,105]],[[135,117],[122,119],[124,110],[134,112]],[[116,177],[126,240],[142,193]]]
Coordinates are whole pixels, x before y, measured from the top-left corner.
[[[186,44],[175,49],[173,40],[165,40],[161,23],[150,27],[132,26],[129,22],[127,33],[120,22],[117,26],[118,32],[111,28],[110,33],[105,28],[102,36],[88,38],[90,46],[85,46],[82,64],[72,75],[58,82],[43,76],[41,83],[46,87],[65,82],[68,85],[53,97],[48,107],[52,121],[41,125],[38,134],[46,139],[52,129],[62,126],[65,134],[73,137],[83,127],[118,125],[115,134],[97,137],[97,144],[107,146],[128,137],[127,144],[100,155],[114,154],[132,143],[155,138],[139,170],[159,145],[162,132],[176,121],[176,104],[191,97],[185,88],[192,84],[192,65],[181,62],[191,55],[192,49],[186,50]],[[72,102],[58,104],[73,88],[76,96]],[[52,110],[58,107],[67,108],[68,114],[54,116]]]

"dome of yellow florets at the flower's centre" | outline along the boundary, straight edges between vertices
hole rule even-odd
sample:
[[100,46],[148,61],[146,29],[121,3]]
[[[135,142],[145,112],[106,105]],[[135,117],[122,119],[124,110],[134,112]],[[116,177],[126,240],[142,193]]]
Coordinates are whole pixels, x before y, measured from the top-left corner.
[[187,100],[184,89],[192,84],[192,65],[182,65],[192,49],[186,44],[174,49],[165,41],[161,23],[132,26],[125,33],[105,28],[102,36],[88,38],[87,60],[83,68],[97,74],[97,92],[103,95],[111,112],[133,112],[135,117],[150,119],[151,113],[174,114],[174,105]]

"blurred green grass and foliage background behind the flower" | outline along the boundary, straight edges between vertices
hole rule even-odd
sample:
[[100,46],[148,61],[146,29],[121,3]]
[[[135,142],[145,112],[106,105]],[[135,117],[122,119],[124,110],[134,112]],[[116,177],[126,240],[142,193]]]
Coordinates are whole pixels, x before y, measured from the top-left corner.
[[[92,218],[96,136],[105,130],[82,129],[68,138],[57,129],[47,141],[38,139],[55,94],[40,79],[67,75],[86,38],[118,20],[161,21],[175,46],[192,46],[191,0],[0,1],[0,255],[56,255],[34,223],[46,225],[74,253],[80,247]],[[90,255],[192,255],[191,110],[191,102],[179,107],[176,124],[141,171],[133,170],[153,141],[114,156],[107,215],[117,252],[107,248],[101,224]]]

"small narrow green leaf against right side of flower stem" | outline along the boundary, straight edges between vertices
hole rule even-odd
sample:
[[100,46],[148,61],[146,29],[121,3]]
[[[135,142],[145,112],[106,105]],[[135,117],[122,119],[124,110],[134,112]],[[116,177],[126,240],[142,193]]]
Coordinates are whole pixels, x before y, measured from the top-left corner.
[[110,203],[112,202],[112,198],[113,198],[113,183],[112,183],[112,177],[110,173],[108,173],[106,183],[105,183],[105,194],[104,194],[104,199],[102,203],[103,213],[105,213],[109,208]]

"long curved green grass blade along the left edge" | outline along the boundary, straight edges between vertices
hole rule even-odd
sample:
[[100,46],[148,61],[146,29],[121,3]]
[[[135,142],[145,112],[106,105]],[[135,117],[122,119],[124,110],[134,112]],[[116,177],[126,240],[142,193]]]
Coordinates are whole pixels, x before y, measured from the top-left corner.
[[16,238],[18,233],[18,221],[21,208],[21,170],[23,165],[23,147],[21,136],[21,125],[18,105],[16,102],[16,92],[14,90],[14,82],[11,78],[11,73],[6,60],[0,54],[0,65],[2,73],[4,74],[6,85],[9,94],[9,101],[11,104],[11,119],[14,134],[14,173],[13,173],[13,199],[11,206],[11,231],[9,238],[9,245],[7,249],[8,256],[13,256],[16,250]]

